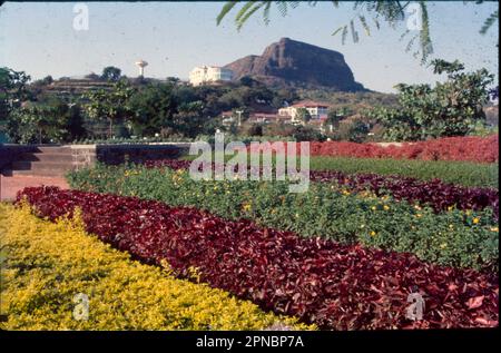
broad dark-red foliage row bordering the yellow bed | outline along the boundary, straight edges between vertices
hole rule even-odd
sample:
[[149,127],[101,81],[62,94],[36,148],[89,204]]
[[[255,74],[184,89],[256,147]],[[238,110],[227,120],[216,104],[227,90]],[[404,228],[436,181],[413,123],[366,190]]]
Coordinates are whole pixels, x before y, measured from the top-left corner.
[[[498,325],[498,277],[438,267],[410,254],[303,239],[289,232],[229,222],[195,208],[55,187],[26,188],[39,216],[81,209],[87,231],[149,264],[249,298],[321,329]],[[48,239],[50,237],[48,236]],[[425,298],[422,321],[405,317],[407,295]]]

